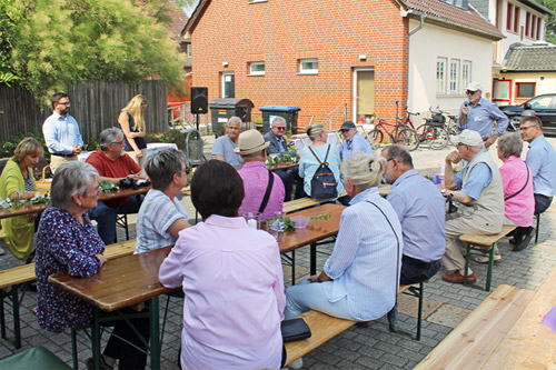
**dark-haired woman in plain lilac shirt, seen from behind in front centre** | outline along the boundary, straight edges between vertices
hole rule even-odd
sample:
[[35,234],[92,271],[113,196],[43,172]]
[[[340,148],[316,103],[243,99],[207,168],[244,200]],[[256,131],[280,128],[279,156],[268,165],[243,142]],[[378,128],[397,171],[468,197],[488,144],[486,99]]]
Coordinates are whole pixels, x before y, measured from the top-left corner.
[[191,200],[203,222],[180,231],[160,282],[181,287],[182,369],[278,369],[286,360],[286,306],[278,244],[238,217],[244,186],[228,163],[195,172]]

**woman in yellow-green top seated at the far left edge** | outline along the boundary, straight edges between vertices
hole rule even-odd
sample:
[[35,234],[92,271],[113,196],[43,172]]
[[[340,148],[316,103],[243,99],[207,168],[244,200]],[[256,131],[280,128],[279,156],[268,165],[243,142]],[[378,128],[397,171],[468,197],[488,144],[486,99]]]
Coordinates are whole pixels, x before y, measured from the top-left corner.
[[[0,177],[0,198],[11,201],[29,200],[37,193],[33,167],[42,157],[40,143],[24,138],[16,147]],[[32,260],[34,219],[37,213],[2,219],[2,230],[8,250],[21,261]],[[3,249],[0,248],[3,252]],[[0,252],[0,254],[3,254]]]

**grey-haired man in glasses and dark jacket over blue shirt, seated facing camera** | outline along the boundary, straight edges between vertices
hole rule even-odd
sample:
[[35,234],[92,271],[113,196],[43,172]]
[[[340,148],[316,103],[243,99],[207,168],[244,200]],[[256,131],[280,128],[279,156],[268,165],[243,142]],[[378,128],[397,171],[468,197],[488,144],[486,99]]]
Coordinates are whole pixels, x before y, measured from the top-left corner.
[[[297,152],[288,151],[288,143],[286,142],[286,119],[284,117],[275,117],[270,122],[271,131],[265,133],[265,141],[270,144],[267,148],[268,154],[288,154],[297,156]],[[284,188],[286,189],[286,201],[291,200],[291,192],[294,190],[294,182],[296,182],[296,196],[295,198],[302,198],[304,194],[304,183],[299,177],[299,167],[291,167],[285,170],[275,171],[276,174],[284,182]]]

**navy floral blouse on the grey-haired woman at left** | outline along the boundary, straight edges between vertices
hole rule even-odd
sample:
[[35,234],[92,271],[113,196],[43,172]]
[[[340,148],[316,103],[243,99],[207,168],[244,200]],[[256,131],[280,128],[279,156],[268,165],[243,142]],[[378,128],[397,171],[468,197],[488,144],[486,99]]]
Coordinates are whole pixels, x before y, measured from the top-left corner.
[[88,303],[48,282],[48,277],[58,272],[88,278],[99,271],[100,262],[95,254],[102,254],[105,243],[87,214],[83,214],[83,223],[52,206],[40,219],[34,271],[37,318],[49,331],[88,324],[92,319],[92,308]]

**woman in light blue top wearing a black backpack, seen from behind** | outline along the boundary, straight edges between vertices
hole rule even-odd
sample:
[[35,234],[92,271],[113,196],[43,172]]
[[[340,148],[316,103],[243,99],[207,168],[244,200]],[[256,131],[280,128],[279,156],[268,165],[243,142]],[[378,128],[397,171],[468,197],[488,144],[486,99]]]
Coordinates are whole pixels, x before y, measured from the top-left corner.
[[320,162],[327,162],[328,168],[332,171],[334,178],[337,182],[336,190],[338,196],[331,201],[336,200],[344,191],[344,183],[340,180],[340,154],[336,147],[327,143],[327,134],[322,124],[312,124],[307,128],[307,136],[312,143],[304,148],[299,153],[299,177],[304,178],[304,190],[310,197],[311,194],[311,180],[317,171]]

